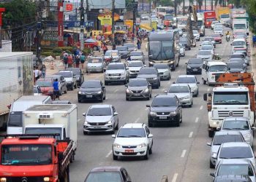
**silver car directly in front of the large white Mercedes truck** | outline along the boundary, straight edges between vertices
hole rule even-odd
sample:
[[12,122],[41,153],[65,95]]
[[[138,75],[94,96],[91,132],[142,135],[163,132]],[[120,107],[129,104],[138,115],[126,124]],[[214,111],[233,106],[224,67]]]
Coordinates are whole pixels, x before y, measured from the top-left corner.
[[253,146],[253,130],[255,130],[255,127],[251,127],[249,119],[246,117],[226,117],[222,122],[222,126],[217,128],[217,130],[236,130],[241,132],[244,141]]

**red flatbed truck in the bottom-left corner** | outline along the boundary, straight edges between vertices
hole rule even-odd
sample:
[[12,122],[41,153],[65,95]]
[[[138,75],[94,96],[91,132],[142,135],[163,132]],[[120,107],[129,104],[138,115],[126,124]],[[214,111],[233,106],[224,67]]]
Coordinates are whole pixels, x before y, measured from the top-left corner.
[[1,135],[1,182],[69,182],[72,141],[54,135]]

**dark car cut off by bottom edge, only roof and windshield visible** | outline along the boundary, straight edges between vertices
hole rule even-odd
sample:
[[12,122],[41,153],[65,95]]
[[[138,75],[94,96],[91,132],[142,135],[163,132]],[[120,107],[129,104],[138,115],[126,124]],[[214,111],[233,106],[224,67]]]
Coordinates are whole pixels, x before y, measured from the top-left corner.
[[84,182],[96,181],[132,182],[127,170],[116,166],[96,167],[90,171]]

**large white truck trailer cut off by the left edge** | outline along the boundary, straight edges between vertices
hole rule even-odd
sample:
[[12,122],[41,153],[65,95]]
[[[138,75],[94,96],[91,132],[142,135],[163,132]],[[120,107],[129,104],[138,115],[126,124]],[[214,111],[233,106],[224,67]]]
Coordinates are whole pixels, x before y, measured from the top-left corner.
[[22,95],[33,95],[32,52],[0,53],[0,127],[6,130],[10,105]]

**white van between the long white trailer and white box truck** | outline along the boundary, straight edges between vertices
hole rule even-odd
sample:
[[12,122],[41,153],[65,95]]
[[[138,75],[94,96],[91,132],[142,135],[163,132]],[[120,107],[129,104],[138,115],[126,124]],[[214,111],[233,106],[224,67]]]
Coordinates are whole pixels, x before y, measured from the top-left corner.
[[23,133],[23,111],[38,104],[51,104],[53,101],[48,95],[23,95],[12,103],[7,122],[7,134]]

